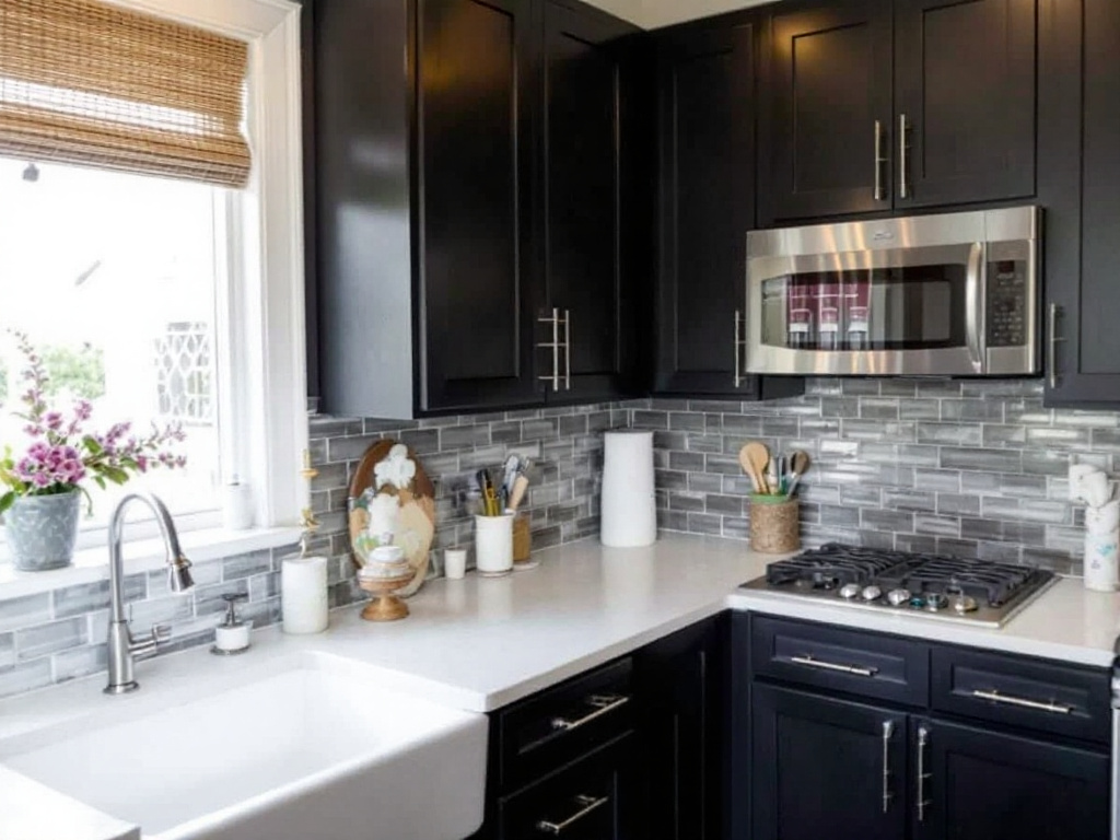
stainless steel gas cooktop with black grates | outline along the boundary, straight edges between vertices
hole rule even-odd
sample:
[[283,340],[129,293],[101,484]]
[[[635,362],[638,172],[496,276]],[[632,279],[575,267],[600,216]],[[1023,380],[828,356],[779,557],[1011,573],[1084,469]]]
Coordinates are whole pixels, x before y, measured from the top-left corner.
[[830,542],[771,563],[740,588],[1001,627],[1055,580],[1030,566]]

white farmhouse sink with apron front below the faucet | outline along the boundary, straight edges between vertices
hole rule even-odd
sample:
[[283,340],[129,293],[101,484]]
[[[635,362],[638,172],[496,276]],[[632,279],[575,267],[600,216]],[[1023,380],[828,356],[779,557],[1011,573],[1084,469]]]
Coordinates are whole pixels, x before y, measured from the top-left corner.
[[482,822],[485,717],[380,689],[346,661],[132,706],[30,749],[0,744],[0,763],[161,840],[460,840]]

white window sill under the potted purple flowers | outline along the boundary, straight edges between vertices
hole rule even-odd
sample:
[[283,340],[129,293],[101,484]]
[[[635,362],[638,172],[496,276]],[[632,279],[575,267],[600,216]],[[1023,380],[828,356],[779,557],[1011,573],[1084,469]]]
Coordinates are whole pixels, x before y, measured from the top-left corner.
[[[295,545],[301,533],[298,528],[212,529],[180,534],[179,543],[188,559],[205,562],[250,551]],[[161,569],[165,561],[161,540],[137,540],[124,544],[125,575]],[[53,571],[17,571],[15,566],[4,562],[0,563],[0,600],[108,579],[109,549],[105,545],[76,551],[72,566]]]

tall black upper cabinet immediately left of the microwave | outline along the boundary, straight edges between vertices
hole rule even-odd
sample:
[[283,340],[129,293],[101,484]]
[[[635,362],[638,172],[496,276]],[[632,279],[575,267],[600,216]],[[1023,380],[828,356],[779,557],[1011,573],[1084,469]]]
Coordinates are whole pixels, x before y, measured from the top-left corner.
[[762,399],[797,381],[746,375],[746,232],[755,227],[758,19],[656,38],[661,394]]

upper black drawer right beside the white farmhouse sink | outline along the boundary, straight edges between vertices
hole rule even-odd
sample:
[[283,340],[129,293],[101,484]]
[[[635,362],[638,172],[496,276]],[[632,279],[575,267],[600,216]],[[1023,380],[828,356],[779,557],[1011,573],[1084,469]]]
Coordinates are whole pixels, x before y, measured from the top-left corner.
[[634,663],[596,669],[500,715],[501,786],[511,790],[633,727]]

